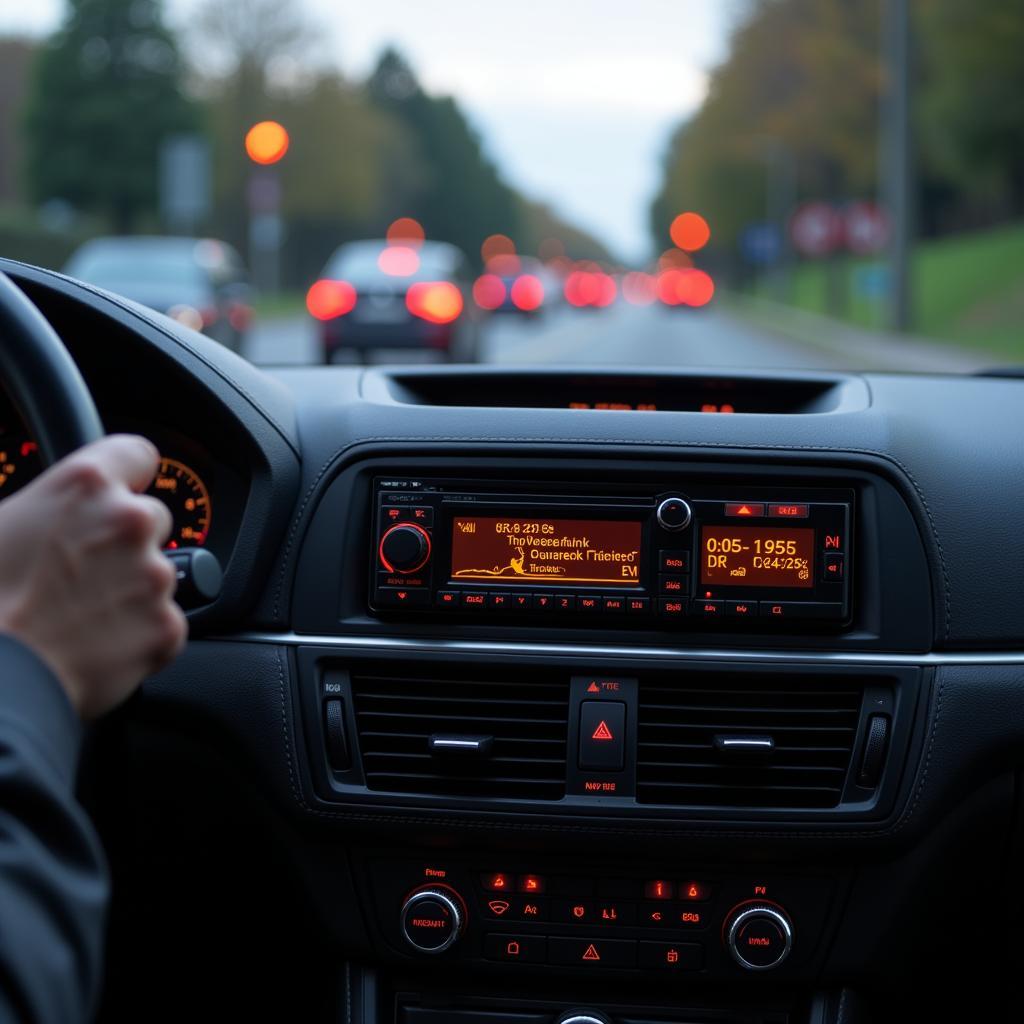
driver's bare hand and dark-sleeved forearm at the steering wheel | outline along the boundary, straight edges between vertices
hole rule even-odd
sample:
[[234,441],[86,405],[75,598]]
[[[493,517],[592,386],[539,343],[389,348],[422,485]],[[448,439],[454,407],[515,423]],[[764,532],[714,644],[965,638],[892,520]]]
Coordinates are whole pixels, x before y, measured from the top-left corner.
[[74,798],[79,720],[184,643],[159,457],[108,437],[0,503],[0,1022],[91,1019],[108,900]]

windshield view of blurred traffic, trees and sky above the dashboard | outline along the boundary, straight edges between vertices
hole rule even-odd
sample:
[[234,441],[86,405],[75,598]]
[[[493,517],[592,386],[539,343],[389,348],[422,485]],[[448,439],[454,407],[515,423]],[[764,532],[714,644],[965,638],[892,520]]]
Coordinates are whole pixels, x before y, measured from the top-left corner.
[[1020,367],[1022,53],[1006,0],[3,3],[0,255],[233,247],[261,364]]

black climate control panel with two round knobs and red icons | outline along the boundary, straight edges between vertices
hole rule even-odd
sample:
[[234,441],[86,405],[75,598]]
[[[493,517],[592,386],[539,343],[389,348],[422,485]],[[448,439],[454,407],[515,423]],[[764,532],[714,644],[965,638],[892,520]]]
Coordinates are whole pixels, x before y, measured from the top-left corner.
[[643,876],[566,865],[368,861],[393,954],[518,971],[799,970],[820,950],[835,883],[663,865]]

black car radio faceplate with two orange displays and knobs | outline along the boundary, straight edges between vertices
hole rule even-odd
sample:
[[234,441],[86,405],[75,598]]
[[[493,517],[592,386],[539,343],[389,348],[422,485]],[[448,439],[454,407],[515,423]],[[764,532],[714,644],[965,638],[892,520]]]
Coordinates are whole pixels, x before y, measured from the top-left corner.
[[852,490],[486,487],[375,479],[373,609],[601,629],[850,618]]

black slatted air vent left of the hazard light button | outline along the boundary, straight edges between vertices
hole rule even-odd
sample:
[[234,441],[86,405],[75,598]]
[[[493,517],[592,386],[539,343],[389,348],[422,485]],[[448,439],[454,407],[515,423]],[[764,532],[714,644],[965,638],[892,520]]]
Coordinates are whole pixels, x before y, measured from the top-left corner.
[[353,675],[352,693],[371,790],[506,800],[565,795],[567,680]]

